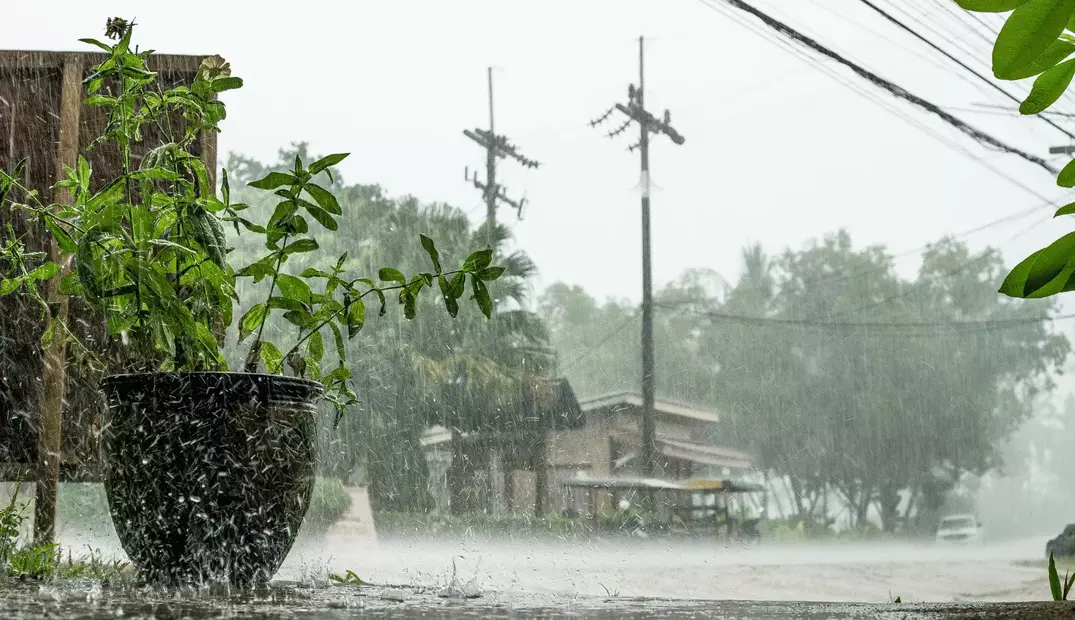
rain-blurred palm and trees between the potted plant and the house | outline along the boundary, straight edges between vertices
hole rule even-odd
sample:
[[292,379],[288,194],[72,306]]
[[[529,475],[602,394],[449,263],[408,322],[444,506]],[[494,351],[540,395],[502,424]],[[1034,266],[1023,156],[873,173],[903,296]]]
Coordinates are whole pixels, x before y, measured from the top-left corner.
[[[282,162],[289,163],[293,155],[282,149]],[[245,182],[263,169],[248,158],[232,161],[249,172],[240,175]],[[511,431],[529,423],[528,405],[551,393],[556,357],[544,321],[526,309],[536,269],[525,253],[506,251],[512,239],[506,227],[475,228],[458,208],[411,197],[391,199],[376,186],[343,186],[336,178],[334,190],[346,216],[334,235],[322,237],[321,247],[331,256],[346,251],[348,268],[374,273],[384,265],[404,273],[430,271],[419,233],[435,240],[445,265],[459,264],[467,251],[488,244],[496,250],[494,263],[504,268],[489,286],[496,306],[491,321],[473,304],[463,304],[455,319],[429,312],[442,301],[435,293],[424,294],[415,321],[402,313],[381,317],[377,304],[368,304],[366,326],[346,344],[361,402],[339,428],[329,430],[326,424],[322,466],[340,476],[364,468],[377,509],[425,510],[430,496],[419,437],[429,426],[460,432]],[[258,208],[270,207],[253,205],[254,218]],[[326,266],[304,263],[305,256],[289,261],[288,270]]]

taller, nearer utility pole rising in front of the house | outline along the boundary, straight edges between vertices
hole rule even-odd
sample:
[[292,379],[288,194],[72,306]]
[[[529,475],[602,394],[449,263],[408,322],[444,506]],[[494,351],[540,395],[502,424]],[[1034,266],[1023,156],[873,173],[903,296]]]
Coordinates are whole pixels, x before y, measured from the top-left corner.
[[591,127],[604,122],[613,112],[619,111],[627,116],[621,126],[606,135],[615,138],[627,131],[631,122],[639,124],[639,142],[628,147],[635,148],[642,155],[642,178],[639,183],[642,189],[642,450],[640,464],[642,475],[653,477],[657,473],[657,420],[654,410],[656,370],[654,363],[654,291],[653,270],[650,268],[649,242],[649,134],[663,133],[677,145],[684,139],[672,128],[672,118],[668,110],[663,119],[655,117],[645,109],[645,61],[643,56],[644,40],[639,37],[639,86],[630,85],[627,90],[628,104],[617,103],[608,109],[600,118],[590,121]]

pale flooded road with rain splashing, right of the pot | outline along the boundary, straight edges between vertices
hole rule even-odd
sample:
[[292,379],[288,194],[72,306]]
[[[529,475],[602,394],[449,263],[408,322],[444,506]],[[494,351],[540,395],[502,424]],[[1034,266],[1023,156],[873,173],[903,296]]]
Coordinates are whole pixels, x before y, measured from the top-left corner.
[[904,602],[1048,599],[1045,539],[938,548],[930,544],[782,545],[520,539],[305,540],[281,577],[352,569],[376,583],[470,583],[501,593],[744,601]]

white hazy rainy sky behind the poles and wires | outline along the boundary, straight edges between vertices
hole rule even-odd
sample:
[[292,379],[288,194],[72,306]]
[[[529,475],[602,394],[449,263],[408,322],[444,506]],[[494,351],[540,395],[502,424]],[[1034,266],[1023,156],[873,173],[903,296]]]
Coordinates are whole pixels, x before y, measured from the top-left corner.
[[[749,242],[799,247],[846,227],[859,244],[903,253],[1043,203],[985,165],[1066,202],[1045,171],[822,63],[842,84],[700,0],[3,1],[14,27],[0,47],[81,49],[77,38],[100,37],[105,18],[121,15],[137,17],[143,47],[226,57],[246,86],[227,93],[221,156],[271,160],[304,140],[315,153],[350,152],[348,181],[473,217],[484,207],[463,167],[484,159],[461,131],[487,126],[492,66],[498,131],[545,163],[501,167],[508,192],[530,201],[514,231],[541,269],[539,287],[564,280],[599,298],[640,298],[639,161],[626,150],[636,132],[606,140],[587,125],[626,100],[640,34],[649,39],[647,106],[671,109],[687,139],[656,139],[651,149],[658,286],[688,268],[734,279]],[[938,104],[1010,104],[859,2],[755,3]],[[958,20],[948,0],[880,4],[973,52],[961,56],[988,73],[990,33]],[[1069,140],[1037,119],[954,113],[1036,155]],[[1014,262],[1070,229],[1049,214],[1042,206],[966,239],[1001,245]],[[500,217],[515,221],[511,210]],[[917,260],[898,264],[909,273]]]

